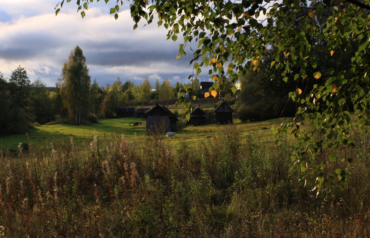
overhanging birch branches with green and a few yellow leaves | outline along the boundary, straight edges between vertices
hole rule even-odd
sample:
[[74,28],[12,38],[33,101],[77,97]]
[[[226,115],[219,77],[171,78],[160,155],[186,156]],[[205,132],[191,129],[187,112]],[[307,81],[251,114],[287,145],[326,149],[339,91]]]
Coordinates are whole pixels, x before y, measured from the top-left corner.
[[[79,9],[87,9],[89,1],[78,0],[77,4]],[[115,19],[121,6],[122,1],[117,1],[110,9]],[[298,105],[292,122],[273,128],[275,143],[279,146],[279,137],[292,129],[297,138],[292,170],[299,171],[300,179],[316,173],[319,189],[324,180],[335,182],[335,174],[343,188],[346,178],[345,167],[325,170],[327,162],[343,158],[334,154],[318,158],[320,151],[354,147],[348,140],[350,126],[370,134],[369,10],[369,0],[133,0],[130,5],[134,29],[140,20],[149,24],[158,16],[158,26],[168,29],[167,39],[176,41],[182,33],[178,57],[186,55],[190,43],[198,43],[196,49],[190,48],[191,63],[196,74],[204,66],[210,68],[208,74],[214,80],[210,90],[225,87],[219,80],[225,73],[234,84],[250,68],[260,71],[263,58],[275,48],[270,63],[274,73],[269,78],[282,77],[287,82],[292,76],[297,86],[289,97]],[[347,55],[344,58],[350,60],[343,67],[327,67],[327,61],[336,55]],[[326,60],[318,62],[318,56]],[[312,88],[300,88],[299,84]],[[192,91],[189,85],[184,90]],[[231,90],[235,93],[236,87]],[[191,103],[185,103],[181,94],[179,103],[190,110]]]

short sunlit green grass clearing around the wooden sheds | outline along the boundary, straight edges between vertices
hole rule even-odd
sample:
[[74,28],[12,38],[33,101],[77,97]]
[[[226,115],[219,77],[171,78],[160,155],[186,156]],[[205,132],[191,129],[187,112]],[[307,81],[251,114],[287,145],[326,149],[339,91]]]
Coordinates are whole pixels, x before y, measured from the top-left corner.
[[[172,109],[172,108],[171,108]],[[174,111],[174,109],[172,109]],[[253,123],[241,123],[239,119],[235,119],[235,124],[240,128],[240,131],[245,138],[248,134],[262,134],[261,136],[272,137],[271,128],[279,125],[282,121],[289,121],[290,118],[278,118],[268,121],[260,121]],[[129,126],[130,122],[141,121],[142,125]],[[202,140],[211,138],[213,133],[222,127],[229,125],[187,125],[179,135],[168,137],[166,140],[178,147],[180,141],[186,140],[189,145],[199,144]],[[131,141],[142,141],[149,138],[145,134],[145,120],[142,118],[119,118],[119,119],[100,119],[98,123],[90,125],[69,125],[69,124],[54,124],[54,125],[36,125],[30,128],[28,133],[0,136],[2,150],[17,150],[19,143],[36,143],[43,145],[47,143],[53,136],[58,135],[70,136],[73,135],[75,143],[83,143],[90,140],[94,135],[98,136],[98,140],[102,141],[105,137],[110,138],[116,134],[123,134]]]

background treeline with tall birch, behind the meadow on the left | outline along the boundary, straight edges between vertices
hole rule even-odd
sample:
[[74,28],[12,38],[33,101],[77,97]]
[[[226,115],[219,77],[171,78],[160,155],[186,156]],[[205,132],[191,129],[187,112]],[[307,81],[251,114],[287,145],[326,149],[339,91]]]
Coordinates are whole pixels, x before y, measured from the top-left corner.
[[[96,117],[114,118],[119,106],[129,101],[169,101],[176,97],[179,88],[168,80],[155,83],[155,90],[146,78],[139,86],[131,81],[122,83],[120,78],[110,86],[99,86],[91,77],[86,58],[80,47],[71,51],[62,68],[56,88],[46,87],[40,79],[31,83],[24,68],[19,66],[9,80],[0,74],[0,134],[21,133],[34,123],[45,124],[64,120],[81,124],[81,120],[96,120]],[[199,96],[199,80],[191,87]]]

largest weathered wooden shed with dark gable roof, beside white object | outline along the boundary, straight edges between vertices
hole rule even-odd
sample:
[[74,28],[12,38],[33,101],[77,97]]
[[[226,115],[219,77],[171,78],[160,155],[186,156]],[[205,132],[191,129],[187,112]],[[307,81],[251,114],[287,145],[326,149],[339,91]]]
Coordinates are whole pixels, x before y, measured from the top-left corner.
[[146,121],[147,134],[162,129],[165,133],[176,130],[177,117],[165,106],[157,105],[148,110],[142,117]]

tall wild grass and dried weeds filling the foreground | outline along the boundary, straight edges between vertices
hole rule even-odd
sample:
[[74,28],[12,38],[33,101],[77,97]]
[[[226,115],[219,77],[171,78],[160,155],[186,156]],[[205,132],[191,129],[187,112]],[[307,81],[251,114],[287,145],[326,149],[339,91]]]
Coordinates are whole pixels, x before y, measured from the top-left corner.
[[[271,132],[242,136],[236,125],[174,148],[153,135],[85,142],[55,136],[0,159],[0,226],[5,237],[365,237],[369,230],[370,138],[336,151],[344,191],[315,174],[291,176],[292,142]],[[102,140],[102,142],[100,142]],[[322,158],[333,151],[323,150]],[[348,164],[342,158],[352,157]],[[325,164],[331,171],[333,163]],[[333,167],[333,168],[332,168]],[[325,183],[329,186],[329,183]]]

